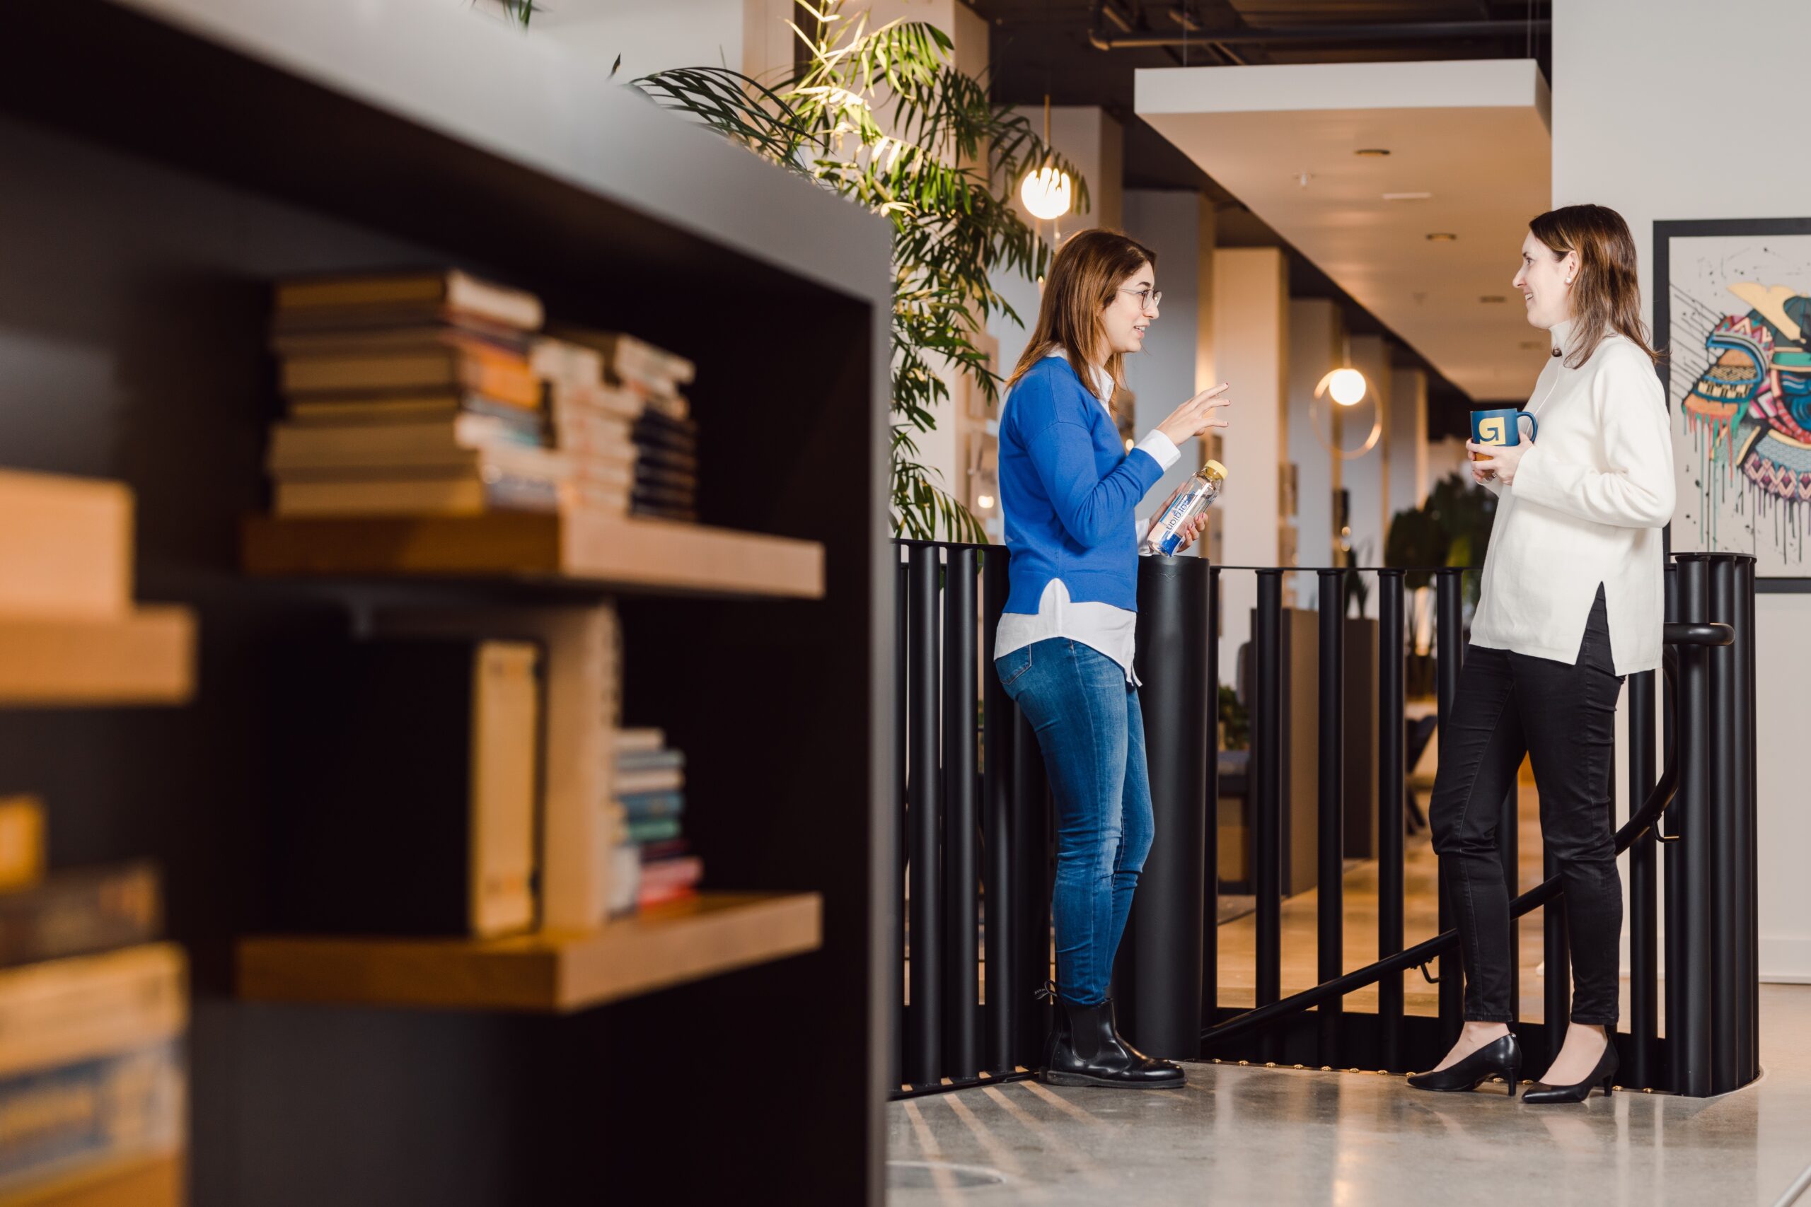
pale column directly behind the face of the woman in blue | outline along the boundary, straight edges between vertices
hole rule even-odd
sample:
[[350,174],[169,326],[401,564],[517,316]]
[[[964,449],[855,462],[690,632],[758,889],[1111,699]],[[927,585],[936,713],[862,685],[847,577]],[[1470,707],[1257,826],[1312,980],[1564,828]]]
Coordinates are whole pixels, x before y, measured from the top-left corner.
[[[1213,204],[1193,192],[1126,192],[1125,230],[1157,255],[1163,308],[1145,335],[1145,351],[1126,356],[1126,385],[1137,398],[1134,429],[1154,429],[1170,411],[1213,384]],[[1145,496],[1155,510],[1179,481],[1201,467],[1199,440]],[[1197,550],[1199,552],[1199,550]]]

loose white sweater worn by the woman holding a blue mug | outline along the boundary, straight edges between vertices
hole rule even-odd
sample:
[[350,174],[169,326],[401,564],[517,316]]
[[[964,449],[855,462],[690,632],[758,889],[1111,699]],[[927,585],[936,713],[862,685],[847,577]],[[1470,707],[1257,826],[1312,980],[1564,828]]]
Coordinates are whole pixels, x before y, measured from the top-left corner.
[[1666,394],[1646,353],[1619,335],[1577,369],[1554,346],[1525,411],[1541,431],[1501,499],[1472,644],[1577,662],[1597,584],[1610,613],[1617,675],[1661,664],[1666,563],[1661,528],[1673,518],[1673,442]]

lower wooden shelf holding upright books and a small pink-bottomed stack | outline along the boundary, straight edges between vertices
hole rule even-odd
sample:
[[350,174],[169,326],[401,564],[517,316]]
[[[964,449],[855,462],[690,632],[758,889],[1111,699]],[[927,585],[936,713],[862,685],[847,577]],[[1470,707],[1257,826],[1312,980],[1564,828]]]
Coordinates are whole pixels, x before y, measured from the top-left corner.
[[252,1001],[570,1013],[822,943],[822,899],[708,892],[589,932],[513,939],[261,936],[239,943]]

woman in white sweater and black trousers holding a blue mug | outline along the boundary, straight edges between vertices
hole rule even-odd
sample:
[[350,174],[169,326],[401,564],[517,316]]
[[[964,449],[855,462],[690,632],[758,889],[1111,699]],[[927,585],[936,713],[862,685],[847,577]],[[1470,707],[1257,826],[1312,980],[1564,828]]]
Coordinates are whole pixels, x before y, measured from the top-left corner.
[[[1623,217],[1581,204],[1534,219],[1516,288],[1528,322],[1552,333],[1525,407],[1539,436],[1467,445],[1480,458],[1472,476],[1500,503],[1431,805],[1463,941],[1465,1028],[1445,1060],[1409,1084],[1476,1089],[1501,1075],[1516,1095],[1516,952],[1496,829],[1528,755],[1541,841],[1565,885],[1576,988],[1565,1044],[1525,1100],[1581,1102],[1594,1086],[1608,1093],[1615,1075],[1615,702],[1624,675],[1661,664],[1673,454]],[[1548,1031],[1559,1022],[1548,1019]]]

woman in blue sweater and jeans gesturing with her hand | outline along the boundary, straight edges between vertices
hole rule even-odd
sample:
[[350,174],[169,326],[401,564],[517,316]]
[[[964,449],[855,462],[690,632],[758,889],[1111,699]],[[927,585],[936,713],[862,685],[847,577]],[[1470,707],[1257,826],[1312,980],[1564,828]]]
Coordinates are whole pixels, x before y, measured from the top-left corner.
[[[1226,405],[1195,394],[1130,452],[1112,416],[1121,358],[1157,318],[1157,257],[1108,230],[1058,250],[1038,326],[1007,380],[1000,507],[1011,556],[994,670],[1038,733],[1056,800],[1054,1086],[1179,1086],[1183,1069],[1119,1037],[1107,983],[1152,843],[1145,720],[1132,673],[1134,508]],[[1204,519],[1184,534],[1184,546]]]

